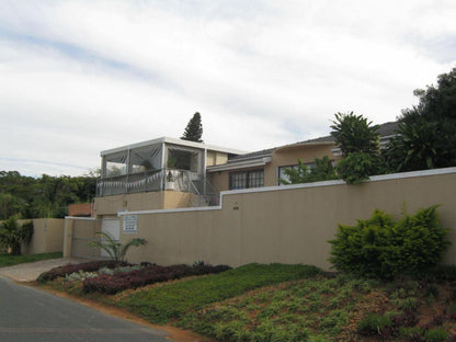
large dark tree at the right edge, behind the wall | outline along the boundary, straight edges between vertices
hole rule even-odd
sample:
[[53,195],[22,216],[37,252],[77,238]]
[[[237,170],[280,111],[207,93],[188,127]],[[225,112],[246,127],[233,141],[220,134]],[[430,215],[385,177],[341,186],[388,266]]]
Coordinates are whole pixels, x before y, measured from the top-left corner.
[[417,89],[419,104],[402,111],[398,135],[385,153],[394,171],[456,166],[456,68],[437,86]]

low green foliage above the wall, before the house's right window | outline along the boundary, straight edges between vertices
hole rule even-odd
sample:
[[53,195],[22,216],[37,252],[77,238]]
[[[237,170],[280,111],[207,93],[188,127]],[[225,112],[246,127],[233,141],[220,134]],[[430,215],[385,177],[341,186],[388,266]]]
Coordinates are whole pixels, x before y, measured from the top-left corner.
[[282,184],[299,184],[309,182],[320,182],[335,180],[338,176],[332,166],[332,161],[328,156],[323,158],[315,159],[316,166],[308,168],[303,160],[298,159],[298,166],[296,168],[286,168],[284,173],[288,176],[289,182],[281,179]]

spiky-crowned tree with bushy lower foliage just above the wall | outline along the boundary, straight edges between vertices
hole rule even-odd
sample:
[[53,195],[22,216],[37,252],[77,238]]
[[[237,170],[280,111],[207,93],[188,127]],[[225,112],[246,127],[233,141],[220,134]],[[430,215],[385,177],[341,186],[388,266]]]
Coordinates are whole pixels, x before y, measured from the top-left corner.
[[342,159],[337,171],[349,184],[367,180],[369,175],[379,173],[381,155],[378,125],[363,115],[338,113],[331,125],[331,135],[342,151]]

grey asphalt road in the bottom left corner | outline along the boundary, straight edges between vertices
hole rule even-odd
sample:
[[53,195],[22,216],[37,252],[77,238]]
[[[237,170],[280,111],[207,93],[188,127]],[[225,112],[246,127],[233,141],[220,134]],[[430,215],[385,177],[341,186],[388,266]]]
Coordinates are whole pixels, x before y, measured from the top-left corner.
[[164,342],[166,332],[125,321],[0,276],[0,341]]

